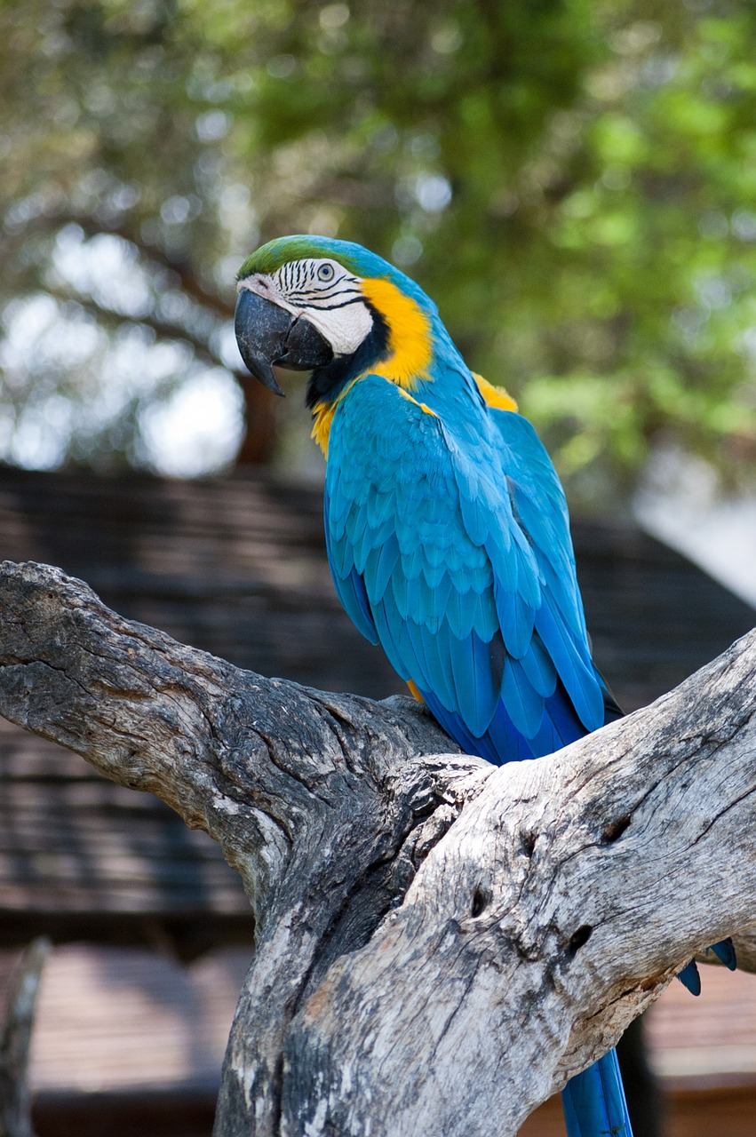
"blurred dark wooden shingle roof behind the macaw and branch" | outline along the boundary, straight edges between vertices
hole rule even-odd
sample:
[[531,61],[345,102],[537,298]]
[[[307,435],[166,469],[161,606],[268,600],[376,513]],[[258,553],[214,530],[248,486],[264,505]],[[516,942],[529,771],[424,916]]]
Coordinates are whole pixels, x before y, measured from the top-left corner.
[[[581,522],[574,539],[595,654],[628,709],[755,622],[630,524]],[[402,690],[339,606],[317,487],[0,468],[0,556],[58,564],[124,615],[239,666],[375,697]],[[250,940],[238,877],[156,798],[1,720],[0,787],[0,947],[44,930],[191,958]]]

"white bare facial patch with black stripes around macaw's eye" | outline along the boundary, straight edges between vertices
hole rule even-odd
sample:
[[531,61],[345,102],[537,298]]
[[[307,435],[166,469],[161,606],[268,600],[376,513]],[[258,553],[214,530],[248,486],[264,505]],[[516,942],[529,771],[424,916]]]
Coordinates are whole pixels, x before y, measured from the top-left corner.
[[356,351],[373,327],[360,285],[359,276],[330,259],[291,260],[269,276],[256,273],[239,282],[239,289],[308,319],[337,356]]

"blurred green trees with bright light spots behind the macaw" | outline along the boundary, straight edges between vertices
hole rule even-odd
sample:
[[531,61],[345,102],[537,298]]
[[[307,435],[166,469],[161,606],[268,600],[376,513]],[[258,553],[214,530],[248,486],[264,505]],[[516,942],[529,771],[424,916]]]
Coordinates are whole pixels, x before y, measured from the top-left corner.
[[0,92],[0,459],[314,462],[231,324],[313,232],[423,284],[573,495],[751,476],[753,0],[5,0]]

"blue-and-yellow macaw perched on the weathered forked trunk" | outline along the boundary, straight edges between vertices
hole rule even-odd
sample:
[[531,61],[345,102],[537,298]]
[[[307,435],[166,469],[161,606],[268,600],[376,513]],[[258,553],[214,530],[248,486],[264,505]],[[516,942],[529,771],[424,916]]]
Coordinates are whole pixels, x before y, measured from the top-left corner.
[[[235,330],[276,393],[274,364],[310,372],[339,598],[464,750],[541,757],[617,717],[556,471],[423,290],[358,244],[280,238],[241,267]],[[568,1137],[631,1137],[614,1051],[563,1104]]]

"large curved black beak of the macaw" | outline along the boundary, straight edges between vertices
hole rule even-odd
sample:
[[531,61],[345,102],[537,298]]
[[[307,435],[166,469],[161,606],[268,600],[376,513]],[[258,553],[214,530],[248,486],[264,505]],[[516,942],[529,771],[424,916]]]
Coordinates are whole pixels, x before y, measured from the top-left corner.
[[241,357],[263,387],[283,395],[273,364],[289,371],[313,371],[333,359],[331,345],[304,316],[292,316],[272,300],[243,288],[234,322]]

